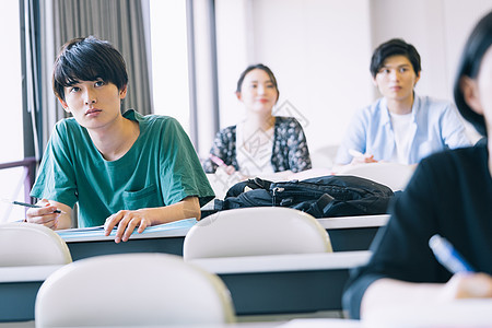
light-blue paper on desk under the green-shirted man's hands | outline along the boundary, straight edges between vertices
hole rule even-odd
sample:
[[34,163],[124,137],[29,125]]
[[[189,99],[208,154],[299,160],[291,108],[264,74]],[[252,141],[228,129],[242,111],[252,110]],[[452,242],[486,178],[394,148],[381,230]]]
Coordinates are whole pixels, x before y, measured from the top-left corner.
[[[150,234],[150,233],[156,233],[156,232],[169,231],[169,230],[178,230],[178,229],[189,229],[195,223],[197,223],[197,219],[185,219],[185,220],[174,221],[174,222],[169,222],[169,223],[148,226],[141,234]],[[115,235],[116,229],[117,227],[113,229],[113,232],[109,234],[109,236]],[[58,230],[56,232],[63,239],[78,238],[81,236],[101,237],[101,236],[104,236],[104,225],[66,229],[66,230]],[[134,234],[138,234],[137,229],[133,231],[132,235],[134,235]]]

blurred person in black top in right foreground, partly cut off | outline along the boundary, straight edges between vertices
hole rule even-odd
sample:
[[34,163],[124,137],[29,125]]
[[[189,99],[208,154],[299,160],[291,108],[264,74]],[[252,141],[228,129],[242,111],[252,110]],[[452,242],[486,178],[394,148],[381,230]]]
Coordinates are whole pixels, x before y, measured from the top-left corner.
[[[454,95],[461,115],[481,134],[490,136],[492,12],[465,46]],[[422,160],[376,236],[370,262],[351,272],[343,305],[352,318],[398,307],[418,315],[413,309],[419,306],[492,297],[491,152],[489,138],[487,143]],[[454,245],[475,272],[446,270],[430,247],[435,234]]]

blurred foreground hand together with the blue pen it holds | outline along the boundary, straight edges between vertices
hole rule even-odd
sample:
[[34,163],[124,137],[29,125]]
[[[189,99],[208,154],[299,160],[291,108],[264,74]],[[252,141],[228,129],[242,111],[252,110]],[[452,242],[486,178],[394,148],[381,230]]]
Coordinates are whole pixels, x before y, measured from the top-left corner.
[[492,297],[492,277],[476,273],[473,267],[456,250],[453,245],[438,234],[433,235],[429,246],[435,258],[454,276],[445,284],[445,298]]

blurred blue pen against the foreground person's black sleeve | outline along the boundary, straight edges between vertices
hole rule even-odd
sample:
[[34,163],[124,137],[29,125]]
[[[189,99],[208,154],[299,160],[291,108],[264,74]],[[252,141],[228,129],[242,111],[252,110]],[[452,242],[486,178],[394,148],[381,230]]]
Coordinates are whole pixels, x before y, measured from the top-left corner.
[[449,272],[475,272],[473,268],[461,257],[453,245],[440,235],[433,235],[429,239],[429,246],[434,253],[435,258]]

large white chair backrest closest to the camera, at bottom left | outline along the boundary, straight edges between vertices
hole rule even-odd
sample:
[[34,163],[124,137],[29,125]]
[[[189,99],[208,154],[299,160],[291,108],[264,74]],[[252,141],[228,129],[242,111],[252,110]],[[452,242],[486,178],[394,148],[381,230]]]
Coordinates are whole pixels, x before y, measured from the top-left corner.
[[38,328],[233,321],[231,295],[222,280],[168,254],[74,261],[46,279],[35,304]]

